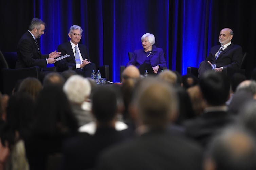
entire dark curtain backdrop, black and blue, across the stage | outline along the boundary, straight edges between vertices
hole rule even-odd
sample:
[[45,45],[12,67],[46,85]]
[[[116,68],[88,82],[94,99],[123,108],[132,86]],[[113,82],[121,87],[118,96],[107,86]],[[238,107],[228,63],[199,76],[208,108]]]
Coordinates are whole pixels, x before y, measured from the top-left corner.
[[72,25],[83,28],[81,43],[96,65],[109,65],[110,80],[119,82],[128,52],[142,48],[141,36],[152,33],[163,48],[168,68],[186,74],[198,67],[222,28],[234,31],[232,42],[249,53],[248,74],[255,67],[256,2],[242,0],[26,0],[3,1],[1,50],[16,51],[33,17],[47,23],[40,39],[44,54],[69,41]]

